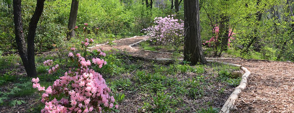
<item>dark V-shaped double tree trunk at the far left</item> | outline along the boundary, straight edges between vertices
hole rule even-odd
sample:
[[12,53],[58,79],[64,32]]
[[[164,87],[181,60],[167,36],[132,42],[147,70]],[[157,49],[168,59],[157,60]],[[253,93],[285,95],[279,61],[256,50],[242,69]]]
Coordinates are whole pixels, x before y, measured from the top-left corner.
[[13,0],[13,14],[14,14],[14,27],[15,27],[15,39],[18,47],[19,55],[24,64],[24,69],[29,77],[37,76],[35,67],[35,32],[38,21],[41,17],[44,8],[45,0],[37,0],[35,13],[30,19],[29,33],[28,33],[28,48],[25,48],[23,25],[21,20],[21,0]]

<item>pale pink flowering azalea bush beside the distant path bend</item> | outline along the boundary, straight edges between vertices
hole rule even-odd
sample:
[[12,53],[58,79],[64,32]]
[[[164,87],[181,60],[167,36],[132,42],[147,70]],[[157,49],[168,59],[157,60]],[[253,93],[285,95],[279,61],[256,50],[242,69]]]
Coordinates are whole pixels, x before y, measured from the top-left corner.
[[174,15],[167,17],[155,17],[155,25],[143,29],[147,35],[150,35],[150,41],[167,45],[183,42],[184,23],[180,19],[174,19]]

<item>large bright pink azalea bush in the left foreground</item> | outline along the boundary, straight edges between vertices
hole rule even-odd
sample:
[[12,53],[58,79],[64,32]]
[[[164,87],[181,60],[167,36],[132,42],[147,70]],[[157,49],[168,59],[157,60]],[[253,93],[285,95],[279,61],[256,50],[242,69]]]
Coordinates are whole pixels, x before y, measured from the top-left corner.
[[[94,42],[93,39],[85,39],[83,46]],[[87,44],[86,44],[87,43]],[[62,77],[59,77],[52,86],[45,88],[39,83],[39,78],[32,78],[33,88],[42,93],[41,102],[45,107],[42,113],[87,113],[91,111],[102,112],[103,109],[111,109],[115,104],[115,99],[111,96],[110,88],[107,87],[105,80],[100,73],[95,72],[91,67],[98,66],[101,68],[107,62],[101,58],[92,58],[87,60],[75,49],[71,48],[68,57],[77,64],[77,67],[69,68]],[[100,49],[97,50],[99,55],[105,56]],[[52,60],[44,61],[44,65],[52,65]],[[49,69],[49,73],[56,72],[59,65]],[[60,97],[57,100],[53,97]]]

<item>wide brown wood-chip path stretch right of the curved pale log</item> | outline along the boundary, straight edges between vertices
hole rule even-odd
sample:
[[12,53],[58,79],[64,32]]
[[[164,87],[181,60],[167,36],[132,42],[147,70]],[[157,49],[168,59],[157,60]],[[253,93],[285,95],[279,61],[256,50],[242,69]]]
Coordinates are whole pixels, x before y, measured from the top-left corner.
[[294,62],[222,60],[251,71],[232,113],[293,113]]

